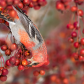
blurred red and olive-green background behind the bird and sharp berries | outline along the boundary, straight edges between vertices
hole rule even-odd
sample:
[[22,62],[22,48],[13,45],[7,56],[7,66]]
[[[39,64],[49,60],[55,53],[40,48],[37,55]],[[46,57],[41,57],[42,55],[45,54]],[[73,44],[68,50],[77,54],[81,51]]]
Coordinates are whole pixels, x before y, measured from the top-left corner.
[[[58,11],[57,0],[46,1],[47,4],[38,10],[28,8],[27,15],[36,24],[44,38],[49,65],[30,67],[24,71],[19,71],[16,66],[11,67],[8,69],[7,80],[0,81],[0,84],[84,84],[84,62],[74,59],[72,54],[75,50],[68,41],[71,30],[68,30],[66,25],[71,20],[71,12],[70,10]],[[74,5],[73,2],[70,6],[72,5]],[[83,8],[83,5],[80,8]],[[1,23],[0,41],[2,38],[5,39],[8,33],[9,29]],[[8,57],[4,56],[4,60],[7,59]],[[35,71],[40,70],[44,70],[45,75],[34,74]]]

